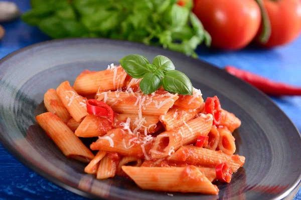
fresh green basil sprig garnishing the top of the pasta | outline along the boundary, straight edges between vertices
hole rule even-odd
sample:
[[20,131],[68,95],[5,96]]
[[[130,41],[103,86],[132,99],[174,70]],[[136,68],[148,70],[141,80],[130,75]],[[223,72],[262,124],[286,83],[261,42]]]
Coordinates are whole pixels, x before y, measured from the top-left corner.
[[138,54],[129,54],[120,60],[124,71],[133,78],[142,78],[140,89],[150,94],[162,85],[166,91],[183,95],[192,95],[193,86],[185,73],[175,70],[175,65],[168,57],[157,55],[153,64]]

